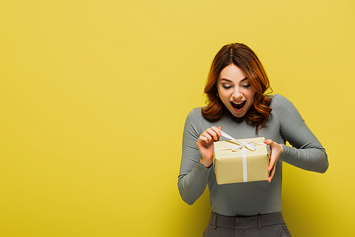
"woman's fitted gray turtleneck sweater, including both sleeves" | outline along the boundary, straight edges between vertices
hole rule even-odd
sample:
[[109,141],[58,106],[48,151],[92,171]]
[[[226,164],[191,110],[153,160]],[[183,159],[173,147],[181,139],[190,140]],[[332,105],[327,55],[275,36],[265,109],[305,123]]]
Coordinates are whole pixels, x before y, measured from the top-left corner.
[[[193,204],[203,194],[207,185],[212,212],[215,214],[254,216],[280,212],[283,162],[304,170],[321,173],[327,170],[327,153],[295,106],[279,94],[270,97],[270,107],[273,111],[266,126],[258,133],[255,126],[247,123],[245,118],[236,118],[230,113],[219,121],[210,122],[202,116],[201,108],[190,112],[185,122],[178,177],[180,195],[187,204]],[[217,184],[213,167],[206,168],[199,162],[201,155],[196,146],[197,138],[212,126],[222,126],[222,131],[236,139],[265,137],[283,144],[283,153],[278,159],[271,183],[258,181]],[[221,140],[228,139],[222,137]],[[285,145],[286,140],[293,148]]]

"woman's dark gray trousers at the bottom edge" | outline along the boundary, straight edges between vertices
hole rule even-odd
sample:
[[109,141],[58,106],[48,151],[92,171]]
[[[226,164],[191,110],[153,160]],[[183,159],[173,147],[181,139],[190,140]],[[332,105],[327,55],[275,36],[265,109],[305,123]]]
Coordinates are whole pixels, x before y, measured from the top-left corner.
[[203,237],[285,237],[291,236],[283,214],[232,217],[211,214]]

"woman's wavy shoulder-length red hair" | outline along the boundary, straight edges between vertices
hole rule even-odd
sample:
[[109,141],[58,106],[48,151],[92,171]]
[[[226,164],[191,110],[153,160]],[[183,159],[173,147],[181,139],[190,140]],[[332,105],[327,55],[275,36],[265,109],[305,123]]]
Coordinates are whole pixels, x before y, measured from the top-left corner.
[[207,84],[204,87],[204,94],[207,95],[207,106],[202,108],[202,116],[209,121],[218,121],[228,112],[221,99],[217,97],[217,79],[224,67],[231,64],[236,65],[244,72],[251,87],[256,91],[253,106],[246,113],[246,120],[254,123],[256,131],[258,131],[258,128],[265,126],[270,117],[271,98],[266,97],[264,93],[268,89],[272,92],[272,89],[256,53],[242,43],[224,45],[214,57],[207,77]]

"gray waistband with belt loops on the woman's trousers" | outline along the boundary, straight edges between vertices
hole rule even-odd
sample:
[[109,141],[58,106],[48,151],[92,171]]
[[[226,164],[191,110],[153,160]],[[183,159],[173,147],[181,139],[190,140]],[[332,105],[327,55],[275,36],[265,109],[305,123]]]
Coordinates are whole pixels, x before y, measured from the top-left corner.
[[214,228],[258,228],[262,226],[271,226],[275,224],[285,224],[283,214],[281,212],[275,212],[271,214],[263,214],[257,216],[222,216],[214,214],[212,212],[209,218],[209,224]]

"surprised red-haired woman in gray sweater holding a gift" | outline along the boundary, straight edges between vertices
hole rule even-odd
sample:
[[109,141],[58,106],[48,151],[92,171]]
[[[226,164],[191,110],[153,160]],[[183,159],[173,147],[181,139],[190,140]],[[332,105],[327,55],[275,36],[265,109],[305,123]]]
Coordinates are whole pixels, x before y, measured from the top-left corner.
[[[178,187],[193,204],[209,189],[212,215],[203,236],[290,236],[281,214],[283,161],[304,170],[325,172],[324,148],[293,104],[279,94],[266,96],[270,84],[263,65],[248,46],[225,45],[214,57],[204,93],[208,105],[187,116]],[[217,184],[213,143],[265,137],[267,181]],[[286,140],[293,145],[285,145]]]

